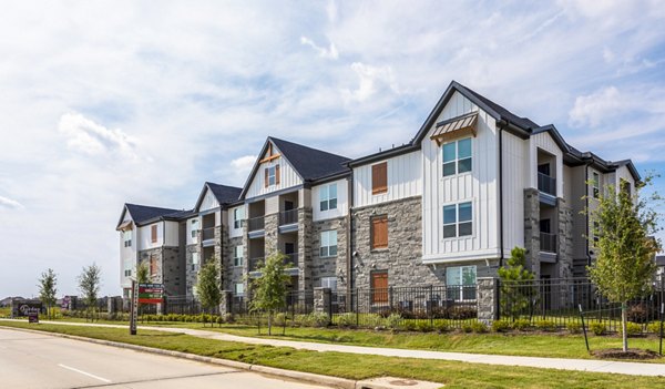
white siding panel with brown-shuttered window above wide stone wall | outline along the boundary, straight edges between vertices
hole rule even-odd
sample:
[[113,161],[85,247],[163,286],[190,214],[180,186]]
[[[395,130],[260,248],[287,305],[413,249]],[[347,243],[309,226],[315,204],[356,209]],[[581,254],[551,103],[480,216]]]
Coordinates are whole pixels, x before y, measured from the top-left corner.
[[[387,162],[388,191],[371,193],[371,166]],[[354,168],[354,207],[376,205],[422,194],[420,152],[412,152]],[[339,191],[339,187],[338,187]],[[318,204],[318,197],[313,197]]]

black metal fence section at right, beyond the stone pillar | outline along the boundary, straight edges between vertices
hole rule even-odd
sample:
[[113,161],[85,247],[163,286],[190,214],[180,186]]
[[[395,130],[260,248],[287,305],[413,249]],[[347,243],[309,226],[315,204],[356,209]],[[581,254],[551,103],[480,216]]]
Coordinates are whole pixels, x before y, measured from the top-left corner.
[[[651,293],[627,305],[628,321],[640,325],[643,331],[661,319],[664,281],[654,283]],[[587,324],[602,323],[610,332],[621,330],[621,304],[610,303],[589,278],[498,283],[502,320],[564,328],[571,323],[581,324],[582,309]]]

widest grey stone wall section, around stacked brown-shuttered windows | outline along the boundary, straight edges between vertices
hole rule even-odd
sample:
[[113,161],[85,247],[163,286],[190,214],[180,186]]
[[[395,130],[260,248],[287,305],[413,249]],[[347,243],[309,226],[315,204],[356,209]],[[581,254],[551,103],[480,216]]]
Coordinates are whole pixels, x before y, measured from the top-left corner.
[[[371,249],[371,217],[388,216],[388,248]],[[372,272],[387,270],[390,286],[442,285],[443,267],[422,264],[420,197],[352,209],[351,253],[354,285],[369,288]]]

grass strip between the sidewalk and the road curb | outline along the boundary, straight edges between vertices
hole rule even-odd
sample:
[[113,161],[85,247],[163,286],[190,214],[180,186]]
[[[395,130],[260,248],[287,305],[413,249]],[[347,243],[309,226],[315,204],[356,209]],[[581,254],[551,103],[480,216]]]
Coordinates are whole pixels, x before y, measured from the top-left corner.
[[[454,361],[418,360],[317,352],[287,347],[255,346],[196,338],[182,334],[141,330],[130,336],[124,328],[95,328],[59,325],[29,325],[2,321],[0,326],[39,329],[108,339],[141,346],[192,352],[289,370],[307,371],[350,379],[396,376],[442,382],[446,388],[658,388],[665,378],[562,371]],[[480,337],[478,337],[480,339]]]

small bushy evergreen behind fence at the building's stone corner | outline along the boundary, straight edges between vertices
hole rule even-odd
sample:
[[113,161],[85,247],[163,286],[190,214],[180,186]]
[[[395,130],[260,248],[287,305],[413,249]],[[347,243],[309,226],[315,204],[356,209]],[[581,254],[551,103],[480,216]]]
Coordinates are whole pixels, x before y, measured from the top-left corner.
[[526,250],[514,247],[504,267],[499,268],[501,281],[501,310],[510,314],[513,320],[518,319],[531,304],[533,296],[533,273],[525,269]]

